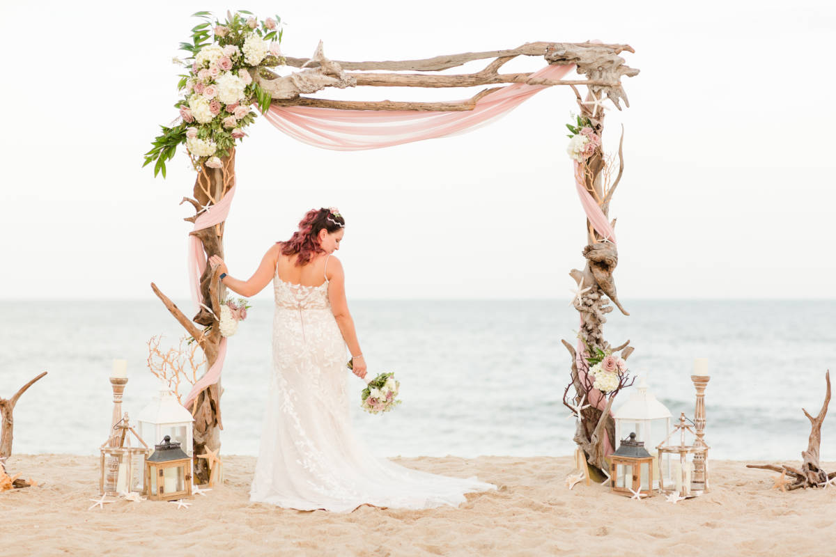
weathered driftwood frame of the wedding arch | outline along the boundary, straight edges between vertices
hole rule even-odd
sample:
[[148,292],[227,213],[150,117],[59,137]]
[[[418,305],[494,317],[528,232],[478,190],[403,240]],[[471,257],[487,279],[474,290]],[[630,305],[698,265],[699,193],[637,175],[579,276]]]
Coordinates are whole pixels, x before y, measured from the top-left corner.
[[[467,111],[474,109],[480,99],[496,94],[507,84],[536,84],[544,86],[566,86],[574,93],[579,109],[579,116],[594,129],[600,137],[604,132],[604,99],[609,99],[616,108],[621,109],[621,103],[629,106],[627,95],[621,84],[622,76],[635,76],[639,70],[624,65],[620,53],[635,52],[627,44],[604,43],[526,43],[517,48],[477,53],[459,53],[435,56],[433,58],[379,61],[379,62],[351,62],[344,60],[330,60],[324,55],[322,43],[311,58],[284,58],[287,65],[299,68],[288,76],[278,76],[268,68],[257,68],[252,78],[269,94],[269,103],[274,106],[305,106],[324,109],[348,110],[408,110],[408,111]],[[532,78],[532,73],[500,73],[502,66],[513,58],[529,56],[543,58],[548,64],[573,65],[579,79],[543,79]],[[441,72],[451,68],[458,68],[465,63],[478,60],[489,60],[487,65],[476,73],[429,73]],[[479,85],[493,85],[466,101],[450,102],[394,102],[394,101],[344,101],[332,99],[315,99],[306,95],[329,89],[346,87],[410,87],[410,88],[460,88]],[[579,89],[584,87],[585,90]],[[264,99],[248,99],[264,108]],[[623,138],[622,138],[623,139]],[[558,157],[563,156],[563,148],[559,149]],[[173,154],[173,150],[172,153]],[[171,158],[171,155],[168,157]],[[226,156],[221,157],[220,168],[208,168],[201,165],[197,172],[195,185],[191,197],[184,197],[181,203],[191,204],[196,215],[185,220],[195,222],[202,210],[211,208],[222,202],[236,183],[235,178],[235,150],[228,149]],[[579,187],[583,187],[595,200],[603,211],[609,213],[609,204],[615,188],[624,170],[623,157],[619,145],[619,170],[613,175],[613,169],[601,149],[589,157],[583,165],[576,165],[576,178]],[[582,186],[581,186],[582,185]],[[614,221],[613,221],[614,225]],[[213,255],[223,257],[224,222],[195,230],[193,237],[199,239],[206,258]],[[618,251],[612,241],[604,238],[596,228],[587,225],[587,246],[584,247],[584,270],[573,270],[571,276],[579,284],[579,295],[574,301],[574,307],[579,311],[580,330],[579,346],[587,351],[613,352],[613,348],[604,340],[605,314],[612,311],[609,301],[621,307],[616,294],[613,271],[618,263]],[[220,304],[225,299],[226,288],[218,280],[219,271],[216,267],[206,266],[200,277],[201,297],[205,307],[193,317],[188,318],[157,286],[151,285],[155,294],[160,297],[171,314],[186,328],[186,331],[200,343],[206,354],[206,366],[212,367],[222,352],[222,336],[219,331],[217,317],[221,315]],[[626,311],[624,311],[626,315]],[[569,408],[573,405],[583,405],[594,397],[593,383],[589,381],[586,371],[588,366],[584,361],[584,354],[578,353],[566,341],[563,343],[572,353],[571,382],[564,394],[563,402]],[[615,350],[622,350],[622,357],[629,356],[632,348],[625,348],[626,344]],[[224,345],[225,348],[225,345]],[[569,388],[574,392],[570,393]],[[620,387],[620,386],[619,386]],[[220,434],[222,428],[220,397],[222,389],[220,382],[209,385],[199,392],[189,409],[195,417],[194,451],[195,454],[205,453],[206,449],[217,451],[220,448]],[[614,396],[614,392],[610,393]],[[603,401],[604,398],[599,397]],[[580,412],[578,430],[575,441],[584,450],[590,464],[598,468],[605,468],[606,443],[614,444],[614,424],[609,415],[612,396],[607,403],[599,403],[585,408]],[[600,408],[599,408],[600,407]],[[209,470],[206,460],[196,458],[196,483],[206,482]]]

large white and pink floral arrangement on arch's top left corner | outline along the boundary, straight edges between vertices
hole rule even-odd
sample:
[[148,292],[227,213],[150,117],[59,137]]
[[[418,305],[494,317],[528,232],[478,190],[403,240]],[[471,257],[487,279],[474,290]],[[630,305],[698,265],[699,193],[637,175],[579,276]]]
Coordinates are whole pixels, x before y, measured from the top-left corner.
[[154,175],[166,177],[166,160],[186,145],[191,164],[198,171],[203,165],[221,168],[221,157],[228,156],[236,139],[246,134],[256,114],[249,105],[257,103],[262,113],[270,108],[270,94],[253,79],[260,68],[285,63],[279,43],[281,18],[259,21],[251,12],[227,12],[224,22],[210,12],[193,13],[204,19],[191,29],[191,43],[180,43],[188,58],[174,58],[186,68],[177,89],[181,94],[174,105],[180,116],[174,125],[161,126],[152,149],[145,153],[145,164],[155,162]]

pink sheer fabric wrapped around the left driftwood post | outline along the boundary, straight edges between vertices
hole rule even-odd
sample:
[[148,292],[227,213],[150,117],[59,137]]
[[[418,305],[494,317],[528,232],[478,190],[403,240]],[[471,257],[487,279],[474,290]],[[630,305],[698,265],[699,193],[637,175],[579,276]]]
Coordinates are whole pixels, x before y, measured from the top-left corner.
[[[235,186],[233,185],[232,188],[227,191],[227,194],[223,196],[222,200],[220,200],[216,205],[209,206],[208,209],[203,211],[203,213],[197,217],[195,220],[195,226],[191,230],[193,232],[196,230],[203,230],[204,228],[209,228],[210,226],[219,225],[224,220],[227,220],[229,209],[232,206],[232,197],[234,195]],[[195,302],[195,311],[199,311],[200,306],[203,303],[203,296],[201,295],[201,275],[203,274],[203,271],[206,271],[206,254],[203,251],[203,244],[201,244],[201,241],[193,235],[189,235],[188,256],[186,258],[186,263],[189,267],[191,299]],[[200,380],[198,380],[198,382],[191,387],[191,391],[186,397],[186,402],[183,403],[183,406],[191,410],[191,403],[194,402],[197,395],[200,394],[200,392],[206,387],[217,383],[218,379],[221,377],[223,361],[226,357],[227,339],[222,338],[221,344],[218,347],[217,360],[215,360],[215,363],[212,364],[212,367],[206,371],[203,377],[201,377]]]

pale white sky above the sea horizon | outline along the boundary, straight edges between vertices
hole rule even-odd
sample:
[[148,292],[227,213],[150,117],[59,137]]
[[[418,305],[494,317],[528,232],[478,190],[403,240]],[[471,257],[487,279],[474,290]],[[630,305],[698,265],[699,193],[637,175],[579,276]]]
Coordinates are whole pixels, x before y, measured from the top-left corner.
[[[288,23],[283,51],[319,39],[332,59],[429,58],[533,41],[629,43],[630,109],[614,196],[621,301],[833,297],[833,47],[829,2],[247,3]],[[406,7],[409,7],[406,9]],[[7,299],[188,296],[186,155],[141,168],[176,117],[171,58],[218,2],[3,7],[3,294]],[[10,24],[12,23],[13,24]],[[488,61],[466,66],[476,71]],[[542,67],[514,60],[508,71]],[[477,88],[482,89],[482,88]],[[472,90],[358,88],[320,96],[462,99]],[[584,265],[584,212],[563,124],[545,90],[471,134],[342,153],[263,119],[237,152],[227,220],[232,276],[247,278],[312,207],[347,220],[338,256],[355,298],[559,298]],[[260,296],[269,296],[269,289]]]

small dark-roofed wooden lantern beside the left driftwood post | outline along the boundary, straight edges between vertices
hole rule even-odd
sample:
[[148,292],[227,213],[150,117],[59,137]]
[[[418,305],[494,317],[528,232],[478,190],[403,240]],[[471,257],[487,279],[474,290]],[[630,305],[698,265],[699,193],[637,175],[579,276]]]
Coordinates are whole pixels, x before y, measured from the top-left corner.
[[145,459],[145,483],[150,501],[173,501],[191,496],[191,457],[168,435]]

